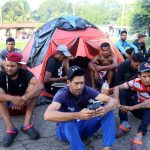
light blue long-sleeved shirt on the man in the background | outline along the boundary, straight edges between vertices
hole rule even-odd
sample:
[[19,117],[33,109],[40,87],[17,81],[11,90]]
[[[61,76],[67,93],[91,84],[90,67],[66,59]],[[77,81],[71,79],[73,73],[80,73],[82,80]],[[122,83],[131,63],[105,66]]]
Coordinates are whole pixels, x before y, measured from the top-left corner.
[[133,48],[134,52],[138,53],[137,47],[128,41],[122,41],[120,39],[116,42],[115,46],[122,54],[125,54],[126,47]]

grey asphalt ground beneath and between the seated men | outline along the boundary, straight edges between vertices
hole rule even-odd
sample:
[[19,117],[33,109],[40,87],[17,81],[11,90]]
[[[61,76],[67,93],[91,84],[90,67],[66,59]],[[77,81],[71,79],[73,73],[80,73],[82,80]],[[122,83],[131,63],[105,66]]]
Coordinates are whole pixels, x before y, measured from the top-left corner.
[[[43,119],[43,114],[46,106],[39,106],[35,109],[33,124],[39,130],[41,134],[41,139],[37,141],[31,141],[29,138],[24,135],[22,132],[19,133],[13,145],[9,148],[3,148],[0,146],[0,150],[69,150],[69,145],[64,142],[60,142],[55,137],[55,123],[45,122]],[[115,113],[117,114],[117,113]],[[116,117],[116,125],[119,123],[118,116]],[[131,150],[131,141],[136,133],[136,129],[140,121],[134,118],[132,115],[129,115],[129,120],[132,126],[132,132],[124,136],[121,139],[117,139],[113,149],[114,150]],[[14,117],[13,122],[16,127],[20,127],[23,122],[23,116]],[[4,133],[5,126],[0,119],[0,138]],[[150,131],[144,137],[145,146],[143,150],[150,150]],[[97,132],[93,137],[85,141],[87,150],[99,150],[101,143],[101,132]]]

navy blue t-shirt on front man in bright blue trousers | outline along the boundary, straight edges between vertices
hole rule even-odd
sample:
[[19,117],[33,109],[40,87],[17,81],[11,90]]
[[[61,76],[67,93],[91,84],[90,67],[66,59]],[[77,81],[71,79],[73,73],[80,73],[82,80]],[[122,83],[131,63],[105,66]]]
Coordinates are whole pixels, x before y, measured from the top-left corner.
[[61,104],[61,112],[79,112],[87,108],[89,99],[95,99],[99,92],[95,89],[85,86],[80,96],[75,97],[69,90],[68,86],[60,89],[54,96],[53,102]]

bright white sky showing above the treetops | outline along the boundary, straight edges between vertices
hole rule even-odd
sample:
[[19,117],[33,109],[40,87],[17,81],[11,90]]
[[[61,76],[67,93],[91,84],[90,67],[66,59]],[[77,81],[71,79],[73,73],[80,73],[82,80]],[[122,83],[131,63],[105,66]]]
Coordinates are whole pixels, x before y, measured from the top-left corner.
[[[0,6],[2,6],[7,1],[8,0],[0,0]],[[43,1],[44,0],[27,0],[27,2],[29,3],[32,11],[35,10],[35,9],[37,9],[40,6],[40,4],[43,3]],[[91,0],[91,1],[98,1],[98,0]],[[121,3],[123,3],[123,2],[125,2],[125,3],[131,3],[131,2],[133,2],[135,0],[117,0],[117,1],[121,2]]]

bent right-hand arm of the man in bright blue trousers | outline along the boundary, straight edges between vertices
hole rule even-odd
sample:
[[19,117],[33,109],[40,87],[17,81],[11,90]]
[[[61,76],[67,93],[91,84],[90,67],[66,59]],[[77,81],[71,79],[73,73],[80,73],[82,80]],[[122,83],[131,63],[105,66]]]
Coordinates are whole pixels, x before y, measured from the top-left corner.
[[105,113],[114,110],[117,106],[116,99],[103,94],[99,94],[95,99],[107,103],[104,105]]

